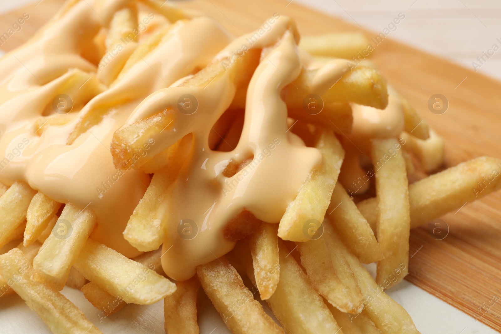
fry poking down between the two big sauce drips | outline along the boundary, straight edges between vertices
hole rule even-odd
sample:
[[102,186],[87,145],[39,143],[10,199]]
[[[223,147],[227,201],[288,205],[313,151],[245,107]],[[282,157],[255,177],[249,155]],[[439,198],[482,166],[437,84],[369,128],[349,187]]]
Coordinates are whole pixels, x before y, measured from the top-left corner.
[[165,241],[170,212],[162,201],[167,188],[175,180],[190,152],[191,136],[186,136],[181,140],[168,165],[153,175],[143,198],[130,216],[124,238],[138,250],[155,250]]

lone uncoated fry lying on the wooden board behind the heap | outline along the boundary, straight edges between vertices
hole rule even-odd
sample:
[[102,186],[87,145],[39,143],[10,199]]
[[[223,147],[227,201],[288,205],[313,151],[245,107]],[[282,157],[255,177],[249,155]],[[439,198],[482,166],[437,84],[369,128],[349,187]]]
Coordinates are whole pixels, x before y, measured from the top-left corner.
[[328,33],[301,37],[299,46],[313,56],[351,59],[367,49],[369,41],[362,33]]

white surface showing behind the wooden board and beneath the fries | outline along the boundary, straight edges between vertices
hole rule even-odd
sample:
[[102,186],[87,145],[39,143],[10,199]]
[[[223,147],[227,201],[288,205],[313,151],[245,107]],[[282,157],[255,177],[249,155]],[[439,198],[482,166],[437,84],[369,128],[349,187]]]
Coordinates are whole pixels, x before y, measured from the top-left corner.
[[[0,0],[0,13],[39,0]],[[405,20],[391,37],[400,42],[449,59],[472,69],[471,62],[492,44],[501,47],[501,1],[484,0],[293,0],[323,13],[344,18],[374,32],[380,32],[399,13]],[[485,62],[479,72],[501,80],[501,50]],[[371,270],[374,266],[369,266]],[[102,319],[79,290],[69,287],[63,294],[80,307],[104,333],[164,333],[163,302],[153,305],[127,305]],[[388,294],[409,312],[423,334],[490,334],[495,330],[460,310],[403,281]],[[481,302],[479,301],[479,305]],[[201,294],[199,314],[201,334],[226,334],[217,311]],[[45,323],[17,295],[0,299],[0,333],[50,333]],[[295,333],[301,334],[301,333]]]

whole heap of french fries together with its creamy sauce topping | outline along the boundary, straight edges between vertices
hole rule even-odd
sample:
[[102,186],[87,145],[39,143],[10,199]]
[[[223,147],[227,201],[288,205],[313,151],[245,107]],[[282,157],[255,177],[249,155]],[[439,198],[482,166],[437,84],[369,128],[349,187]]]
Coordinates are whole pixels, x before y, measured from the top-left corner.
[[[0,255],[0,297],[18,293],[57,333],[100,333],[58,292],[65,284],[82,291],[100,321],[127,303],[163,299],[170,334],[200,332],[200,286],[236,334],[418,333],[384,292],[408,272],[409,229],[501,188],[501,160],[476,158],[409,186],[414,158],[426,172],[443,164],[443,140],[370,61],[358,64],[363,34],[298,46],[294,20],[276,14],[234,39],[164,0],[101,3],[68,0],[30,43],[0,59],[19,91],[0,87],[0,110],[9,111],[0,117],[8,134],[0,168],[12,162],[2,173],[12,186],[0,183],[0,246],[24,236]],[[374,108],[398,113],[389,117],[397,122]],[[17,144],[25,135],[29,144]],[[356,205],[353,194],[373,190],[369,179],[352,182],[369,175],[369,151],[376,197]],[[113,167],[136,171],[108,177],[123,188],[96,195]],[[352,183],[348,194],[343,185]],[[131,199],[132,215],[120,212]],[[183,248],[188,218],[199,227],[193,249]],[[92,233],[96,226],[111,243]],[[361,263],[375,261],[374,280]],[[186,280],[175,284],[166,272]]]

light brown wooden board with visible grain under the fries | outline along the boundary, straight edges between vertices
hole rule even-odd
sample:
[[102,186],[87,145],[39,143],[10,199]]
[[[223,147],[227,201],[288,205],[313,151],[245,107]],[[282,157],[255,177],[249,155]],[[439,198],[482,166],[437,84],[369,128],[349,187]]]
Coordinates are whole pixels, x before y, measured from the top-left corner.
[[[363,31],[339,19],[282,0],[194,0],[183,7],[203,11],[235,35],[258,28],[274,13],[294,17],[302,34]],[[0,17],[0,32],[22,13],[30,19],[0,49],[24,43],[62,4],[44,0]],[[287,7],[286,7],[287,5]],[[381,27],[383,29],[384,27]],[[379,33],[379,32],[378,32]],[[391,35],[389,36],[391,38]],[[501,83],[386,38],[375,46],[371,60],[426,121],[445,138],[446,167],[482,155],[501,158]],[[443,94],[447,112],[428,110],[429,98]],[[473,191],[473,190],[472,190]],[[445,300],[479,321],[501,331],[501,194],[467,203],[444,217],[441,233],[421,227],[411,231],[410,282]],[[445,238],[441,239],[444,235]]]

